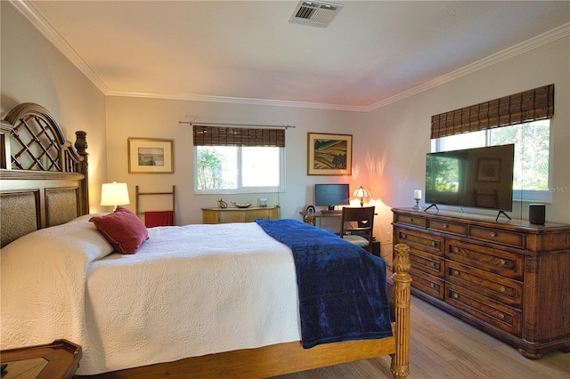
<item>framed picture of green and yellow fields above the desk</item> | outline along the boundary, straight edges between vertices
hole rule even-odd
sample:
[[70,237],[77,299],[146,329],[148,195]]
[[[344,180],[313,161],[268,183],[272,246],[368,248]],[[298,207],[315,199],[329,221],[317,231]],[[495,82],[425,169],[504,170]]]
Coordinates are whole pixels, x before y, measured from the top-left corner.
[[350,175],[353,165],[353,136],[308,133],[308,175]]

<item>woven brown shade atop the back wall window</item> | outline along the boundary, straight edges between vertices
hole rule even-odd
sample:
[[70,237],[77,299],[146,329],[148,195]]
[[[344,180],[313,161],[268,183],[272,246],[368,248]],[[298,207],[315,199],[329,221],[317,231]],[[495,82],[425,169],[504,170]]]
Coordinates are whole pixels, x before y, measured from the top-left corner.
[[194,146],[285,147],[285,130],[192,125]]

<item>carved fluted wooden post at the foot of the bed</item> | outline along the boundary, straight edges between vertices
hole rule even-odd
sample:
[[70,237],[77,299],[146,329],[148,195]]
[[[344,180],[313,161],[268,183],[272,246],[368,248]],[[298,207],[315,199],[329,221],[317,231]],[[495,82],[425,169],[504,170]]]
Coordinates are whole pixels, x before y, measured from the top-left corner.
[[411,276],[410,247],[395,246],[393,263],[395,302],[395,354],[392,354],[392,375],[395,379],[406,378],[410,373],[410,300]]

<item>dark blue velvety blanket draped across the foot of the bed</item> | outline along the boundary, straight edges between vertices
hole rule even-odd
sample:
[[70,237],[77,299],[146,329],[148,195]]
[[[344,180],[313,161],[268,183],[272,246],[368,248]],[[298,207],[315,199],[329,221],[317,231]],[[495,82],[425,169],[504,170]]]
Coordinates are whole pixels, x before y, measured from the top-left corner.
[[305,222],[256,222],[293,252],[305,349],[392,335],[382,258]]

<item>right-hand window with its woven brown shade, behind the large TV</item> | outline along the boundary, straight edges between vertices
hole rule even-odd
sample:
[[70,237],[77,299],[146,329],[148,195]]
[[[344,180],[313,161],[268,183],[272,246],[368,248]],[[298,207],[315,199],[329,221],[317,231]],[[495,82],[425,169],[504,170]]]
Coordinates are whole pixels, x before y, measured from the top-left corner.
[[514,143],[513,199],[550,202],[553,116],[554,85],[434,115],[432,151]]

